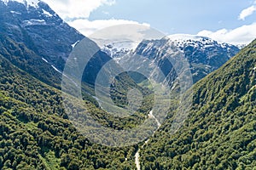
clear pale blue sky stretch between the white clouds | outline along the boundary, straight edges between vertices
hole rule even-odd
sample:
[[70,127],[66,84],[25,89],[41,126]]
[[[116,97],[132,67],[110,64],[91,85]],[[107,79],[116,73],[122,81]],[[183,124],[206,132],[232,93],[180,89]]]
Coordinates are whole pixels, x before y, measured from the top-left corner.
[[97,8],[89,20],[135,20],[168,34],[196,34],[253,23],[256,14],[237,20],[241,10],[251,5],[246,0],[116,0],[112,6]]

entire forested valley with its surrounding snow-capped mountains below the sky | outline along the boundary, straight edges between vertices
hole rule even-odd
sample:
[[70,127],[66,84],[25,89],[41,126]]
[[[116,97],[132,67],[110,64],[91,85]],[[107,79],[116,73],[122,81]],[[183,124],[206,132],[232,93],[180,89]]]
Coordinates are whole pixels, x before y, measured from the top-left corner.
[[0,0],[0,169],[255,168],[256,40],[145,35],[101,47]]

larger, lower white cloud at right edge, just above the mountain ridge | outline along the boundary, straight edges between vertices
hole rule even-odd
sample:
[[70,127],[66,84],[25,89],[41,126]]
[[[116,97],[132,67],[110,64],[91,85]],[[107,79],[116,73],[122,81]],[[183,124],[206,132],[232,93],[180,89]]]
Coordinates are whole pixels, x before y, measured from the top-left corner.
[[256,22],[251,25],[238,27],[234,30],[221,29],[218,31],[200,31],[198,36],[211,37],[218,42],[232,44],[248,44],[256,38]]

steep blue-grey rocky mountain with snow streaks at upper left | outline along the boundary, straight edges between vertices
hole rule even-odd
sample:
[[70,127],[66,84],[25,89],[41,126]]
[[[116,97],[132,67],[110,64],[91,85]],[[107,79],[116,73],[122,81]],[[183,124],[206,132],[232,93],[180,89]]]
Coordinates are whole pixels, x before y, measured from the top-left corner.
[[[55,88],[61,88],[61,73],[75,45],[81,40],[92,42],[68,26],[46,3],[38,0],[1,0],[0,25],[0,52],[3,57]],[[93,78],[111,59],[107,54],[97,53],[97,58],[92,59],[84,70],[82,88],[87,93],[91,90],[84,82],[93,86]]]

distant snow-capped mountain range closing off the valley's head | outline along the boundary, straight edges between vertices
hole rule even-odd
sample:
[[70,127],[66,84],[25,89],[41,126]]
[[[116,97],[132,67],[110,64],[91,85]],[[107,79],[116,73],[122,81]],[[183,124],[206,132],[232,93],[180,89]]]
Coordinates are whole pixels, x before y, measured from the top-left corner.
[[[163,58],[175,58],[168,54],[169,49],[179,50],[188,60],[194,82],[206,77],[212,71],[224,65],[231,57],[240,51],[241,47],[228,43],[220,43],[208,37],[198,37],[186,34],[174,34],[161,39],[144,39],[142,42],[117,39],[113,42],[101,42],[102,51],[111,56],[118,63],[131,55],[140,55],[153,59],[167,76],[173,75],[172,63]],[[169,56],[167,56],[169,55]],[[173,77],[169,77],[174,81]]]

